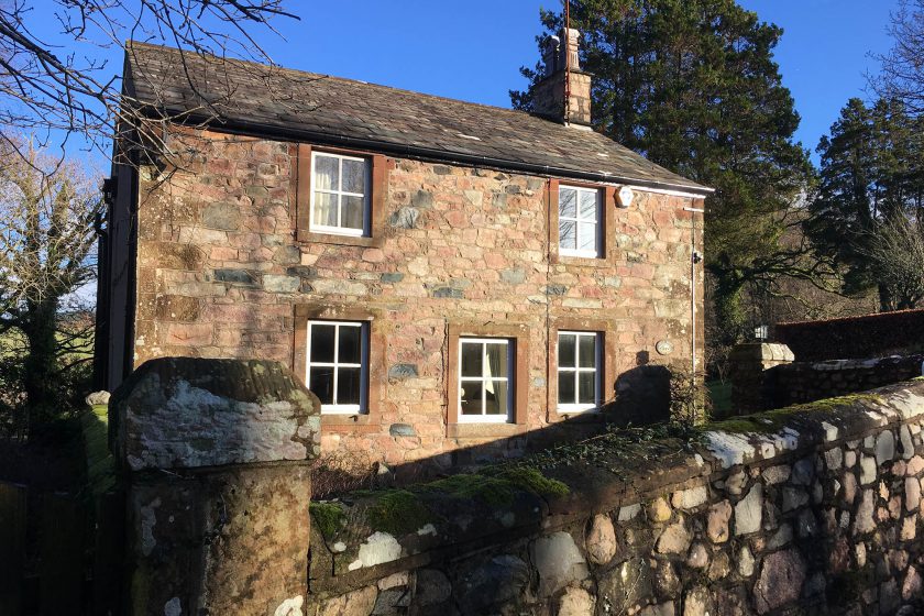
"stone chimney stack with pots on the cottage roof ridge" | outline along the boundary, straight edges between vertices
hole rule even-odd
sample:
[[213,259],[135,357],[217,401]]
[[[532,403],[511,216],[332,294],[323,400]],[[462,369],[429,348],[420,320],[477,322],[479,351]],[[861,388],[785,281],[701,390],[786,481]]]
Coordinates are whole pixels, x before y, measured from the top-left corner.
[[[574,29],[562,36],[550,36],[542,53],[546,74],[534,91],[535,111],[564,124],[591,125],[591,75],[581,70],[578,37]],[[565,63],[565,54],[568,62]],[[568,68],[565,68],[568,67]],[[570,81],[565,84],[565,75]],[[570,96],[565,102],[565,89]]]

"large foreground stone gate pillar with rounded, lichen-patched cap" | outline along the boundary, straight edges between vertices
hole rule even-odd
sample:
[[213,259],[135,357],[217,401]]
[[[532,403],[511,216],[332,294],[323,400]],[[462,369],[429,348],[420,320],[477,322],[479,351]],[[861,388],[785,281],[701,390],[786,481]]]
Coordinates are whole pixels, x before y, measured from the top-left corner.
[[277,362],[166,358],[109,406],[133,616],[301,616],[320,403]]

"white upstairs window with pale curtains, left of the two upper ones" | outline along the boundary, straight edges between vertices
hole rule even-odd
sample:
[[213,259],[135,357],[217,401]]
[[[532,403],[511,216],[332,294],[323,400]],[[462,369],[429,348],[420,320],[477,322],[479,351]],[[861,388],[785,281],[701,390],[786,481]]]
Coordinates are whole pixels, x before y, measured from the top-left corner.
[[369,235],[367,158],[311,153],[311,231]]

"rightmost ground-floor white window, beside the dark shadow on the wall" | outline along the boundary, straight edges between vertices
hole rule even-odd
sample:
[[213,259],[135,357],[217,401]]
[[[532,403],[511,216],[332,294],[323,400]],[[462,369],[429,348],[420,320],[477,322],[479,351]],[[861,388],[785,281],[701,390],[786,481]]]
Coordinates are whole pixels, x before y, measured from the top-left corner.
[[560,331],[558,340],[558,410],[580,413],[600,406],[600,334]]

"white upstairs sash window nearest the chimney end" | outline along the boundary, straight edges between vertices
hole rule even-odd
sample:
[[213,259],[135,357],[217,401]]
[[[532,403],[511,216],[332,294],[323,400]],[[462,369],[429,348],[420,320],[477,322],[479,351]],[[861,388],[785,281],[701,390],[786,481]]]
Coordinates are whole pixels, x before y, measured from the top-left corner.
[[595,188],[559,187],[559,253],[601,256],[601,198]]

